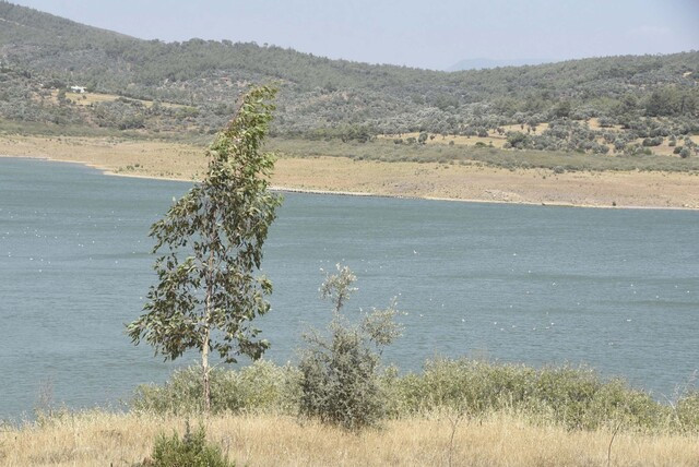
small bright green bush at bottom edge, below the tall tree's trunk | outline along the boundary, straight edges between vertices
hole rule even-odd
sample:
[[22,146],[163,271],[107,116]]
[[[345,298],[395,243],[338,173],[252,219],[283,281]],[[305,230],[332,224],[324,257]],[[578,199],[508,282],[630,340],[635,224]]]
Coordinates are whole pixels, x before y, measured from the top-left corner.
[[153,447],[153,458],[143,463],[153,467],[235,467],[228,462],[221,447],[206,443],[206,432],[200,426],[190,431],[187,422],[185,436],[180,440],[177,433],[171,438],[159,435]]

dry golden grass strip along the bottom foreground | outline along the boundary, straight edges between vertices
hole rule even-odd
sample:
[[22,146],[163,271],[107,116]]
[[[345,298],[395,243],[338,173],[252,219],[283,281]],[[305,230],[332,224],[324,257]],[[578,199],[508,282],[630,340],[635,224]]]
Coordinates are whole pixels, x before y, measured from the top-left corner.
[[[442,466],[450,454],[453,466],[606,466],[613,435],[536,427],[503,414],[461,420],[453,444],[446,416],[389,421],[360,434],[273,415],[217,416],[204,424],[210,441],[249,466]],[[0,464],[130,466],[149,456],[158,433],[181,434],[183,426],[182,418],[150,415],[64,416],[0,432]],[[697,466],[698,443],[696,435],[618,433],[609,465]]]

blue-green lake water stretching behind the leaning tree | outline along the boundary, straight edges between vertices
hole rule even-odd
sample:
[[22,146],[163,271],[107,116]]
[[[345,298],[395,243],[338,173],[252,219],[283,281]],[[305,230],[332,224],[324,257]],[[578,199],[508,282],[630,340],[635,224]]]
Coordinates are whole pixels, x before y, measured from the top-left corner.
[[[155,279],[150,225],[188,183],[0,158],[0,419],[42,392],[116,405],[174,364],[123,323]],[[699,369],[699,213],[286,194],[265,247],[266,358],[295,359],[342,262],[353,312],[398,297],[403,370],[435,356],[587,363],[672,398]],[[177,364],[196,361],[188,356]],[[48,388],[48,390],[47,390]]]

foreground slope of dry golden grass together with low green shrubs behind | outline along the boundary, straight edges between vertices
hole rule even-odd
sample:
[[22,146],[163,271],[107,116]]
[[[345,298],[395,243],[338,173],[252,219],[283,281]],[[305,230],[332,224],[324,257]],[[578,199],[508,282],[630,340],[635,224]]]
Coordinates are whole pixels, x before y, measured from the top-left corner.
[[212,375],[201,415],[196,368],[141,386],[130,412],[39,410],[0,430],[8,466],[132,466],[159,433],[202,423],[249,466],[696,466],[697,392],[673,405],[585,369],[443,360],[382,379],[386,418],[359,432],[298,418],[299,372],[257,362]]

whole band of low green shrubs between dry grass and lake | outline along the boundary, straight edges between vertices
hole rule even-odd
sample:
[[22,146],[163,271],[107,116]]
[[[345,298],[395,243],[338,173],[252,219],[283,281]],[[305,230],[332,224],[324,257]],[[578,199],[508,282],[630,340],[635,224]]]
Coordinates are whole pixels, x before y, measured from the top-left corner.
[[[375,324],[382,322],[381,318],[374,321]],[[352,335],[348,338],[343,336],[339,340],[354,345],[355,349],[360,348],[353,338]],[[330,355],[331,349],[323,349],[323,352]],[[336,352],[362,356],[362,352],[347,352],[346,348]],[[360,370],[347,371],[344,361],[340,360],[337,358],[333,367],[337,368],[337,378],[341,371],[359,381],[368,378],[368,373]],[[356,358],[353,363],[359,360]],[[306,369],[310,378],[304,374],[300,364],[296,368],[256,362],[235,371],[213,370],[212,411],[310,415],[310,406],[313,410],[327,409],[327,421],[356,429],[359,426],[350,423],[350,417],[343,412],[350,410],[350,404],[345,402],[350,400],[352,407],[369,410],[360,420],[370,422],[382,417],[430,417],[442,412],[463,414],[477,419],[505,411],[521,415],[533,423],[554,423],[571,430],[619,426],[625,431],[699,434],[699,392],[692,387],[682,391],[673,400],[661,403],[645,392],[629,387],[624,381],[604,380],[588,368],[534,369],[521,364],[442,359],[428,361],[418,373],[400,374],[395,368],[389,368],[378,378],[369,378],[371,384],[355,384],[356,392],[347,395],[342,387],[329,384],[323,371],[330,368],[325,367],[328,361],[331,360],[311,360]],[[351,361],[348,357],[347,361]],[[352,383],[353,380],[348,381]],[[311,383],[318,386],[313,387]],[[305,390],[304,385],[308,387]],[[176,372],[162,386],[139,387],[131,408],[164,415],[199,412],[202,407],[200,391],[200,372],[190,368]],[[309,394],[304,394],[304,391],[309,391],[315,397],[305,399]],[[323,397],[328,394],[348,398]],[[378,395],[381,405],[377,405],[376,399],[357,400],[356,395],[360,394]],[[339,421],[330,418],[335,411]],[[351,415],[357,417],[356,411]],[[322,417],[321,414],[316,416]]]

